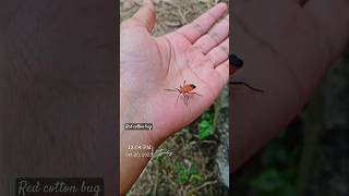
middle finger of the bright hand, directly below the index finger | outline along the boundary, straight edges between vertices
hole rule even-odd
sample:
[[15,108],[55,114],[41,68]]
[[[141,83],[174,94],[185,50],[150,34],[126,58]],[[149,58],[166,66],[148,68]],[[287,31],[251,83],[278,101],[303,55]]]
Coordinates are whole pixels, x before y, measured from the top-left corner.
[[206,35],[195,41],[194,47],[197,47],[201,52],[207,53],[214,47],[224,41],[229,34],[229,15],[213,27]]

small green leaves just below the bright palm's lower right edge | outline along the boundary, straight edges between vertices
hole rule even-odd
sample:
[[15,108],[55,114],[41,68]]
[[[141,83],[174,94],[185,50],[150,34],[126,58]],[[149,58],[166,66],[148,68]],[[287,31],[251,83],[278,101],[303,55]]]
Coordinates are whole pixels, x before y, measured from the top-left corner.
[[198,122],[198,138],[205,139],[214,133],[214,117],[212,112],[208,110],[201,117],[201,120]]

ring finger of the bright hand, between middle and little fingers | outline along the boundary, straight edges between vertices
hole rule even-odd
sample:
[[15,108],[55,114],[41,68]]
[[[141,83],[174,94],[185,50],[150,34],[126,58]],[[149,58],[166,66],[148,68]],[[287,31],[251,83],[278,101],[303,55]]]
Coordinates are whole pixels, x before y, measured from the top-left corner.
[[220,65],[222,62],[228,60],[229,57],[229,38],[218,45],[216,48],[210,50],[206,57],[213,63],[214,68]]

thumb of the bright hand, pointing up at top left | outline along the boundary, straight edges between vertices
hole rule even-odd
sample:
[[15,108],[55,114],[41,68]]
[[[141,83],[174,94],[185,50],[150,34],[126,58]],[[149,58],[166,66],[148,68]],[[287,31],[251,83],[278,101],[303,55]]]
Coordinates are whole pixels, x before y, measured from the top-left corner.
[[152,0],[143,0],[140,10],[132,16],[132,20],[137,22],[141,26],[145,27],[152,33],[155,22],[155,8]]

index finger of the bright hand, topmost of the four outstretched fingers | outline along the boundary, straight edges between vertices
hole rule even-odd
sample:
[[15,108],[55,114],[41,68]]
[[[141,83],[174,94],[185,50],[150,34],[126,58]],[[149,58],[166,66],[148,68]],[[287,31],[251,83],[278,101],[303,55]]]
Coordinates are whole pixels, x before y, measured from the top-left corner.
[[177,33],[182,34],[190,42],[194,42],[216,23],[227,11],[226,3],[218,3],[192,23],[179,28]]

